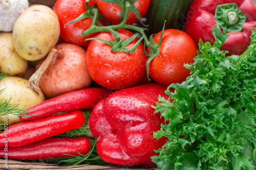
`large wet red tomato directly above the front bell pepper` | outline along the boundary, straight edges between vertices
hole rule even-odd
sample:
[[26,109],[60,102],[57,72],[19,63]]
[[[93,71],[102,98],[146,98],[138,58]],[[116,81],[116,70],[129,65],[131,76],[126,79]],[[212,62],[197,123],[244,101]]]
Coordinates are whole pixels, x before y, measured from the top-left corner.
[[[127,30],[118,30],[121,39],[134,34]],[[114,41],[110,32],[102,32],[95,36]],[[131,49],[138,39],[134,39],[126,47]],[[102,41],[92,40],[88,46],[86,60],[89,74],[99,85],[109,89],[122,89],[137,83],[145,73],[146,55],[144,46],[139,44],[133,53],[112,52],[112,47]]]

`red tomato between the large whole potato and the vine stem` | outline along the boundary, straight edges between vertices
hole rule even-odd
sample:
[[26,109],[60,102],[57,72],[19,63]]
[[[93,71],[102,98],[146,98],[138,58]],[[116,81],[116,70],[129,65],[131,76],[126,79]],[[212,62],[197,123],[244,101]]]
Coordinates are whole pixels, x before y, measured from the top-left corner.
[[[84,18],[64,27],[66,23],[86,12],[84,2],[85,0],[57,0],[54,5],[54,12],[59,18],[60,37],[65,42],[87,47],[89,41],[84,40],[87,38],[92,38],[96,34],[82,37],[82,32],[87,30],[92,25],[92,18]],[[95,1],[91,1],[90,5],[92,6],[94,3]]]

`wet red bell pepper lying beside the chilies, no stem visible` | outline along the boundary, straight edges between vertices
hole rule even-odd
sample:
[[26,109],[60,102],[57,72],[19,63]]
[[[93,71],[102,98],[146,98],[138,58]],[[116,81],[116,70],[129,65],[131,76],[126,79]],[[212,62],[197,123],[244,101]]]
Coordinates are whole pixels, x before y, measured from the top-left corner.
[[165,99],[166,86],[145,84],[113,92],[94,107],[89,125],[97,138],[97,153],[106,162],[121,165],[148,163],[154,150],[166,142],[156,139],[153,132],[165,124],[159,113],[154,114],[158,96]]

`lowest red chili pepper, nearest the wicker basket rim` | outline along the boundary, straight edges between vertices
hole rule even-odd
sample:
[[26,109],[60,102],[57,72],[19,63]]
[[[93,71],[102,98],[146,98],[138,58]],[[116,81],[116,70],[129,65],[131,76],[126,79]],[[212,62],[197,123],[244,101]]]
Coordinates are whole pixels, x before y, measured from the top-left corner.
[[0,157],[6,154],[10,159],[49,159],[78,156],[87,154],[91,149],[91,142],[87,137],[47,138],[21,147],[0,148]]

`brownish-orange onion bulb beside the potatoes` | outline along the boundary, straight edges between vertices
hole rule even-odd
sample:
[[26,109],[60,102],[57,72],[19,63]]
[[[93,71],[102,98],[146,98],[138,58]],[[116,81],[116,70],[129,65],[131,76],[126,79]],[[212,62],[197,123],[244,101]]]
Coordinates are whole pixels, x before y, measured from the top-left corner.
[[[86,64],[86,50],[70,43],[56,45],[58,56],[51,61],[39,80],[39,87],[48,98],[88,88],[92,78]],[[36,69],[45,60],[38,61]]]

